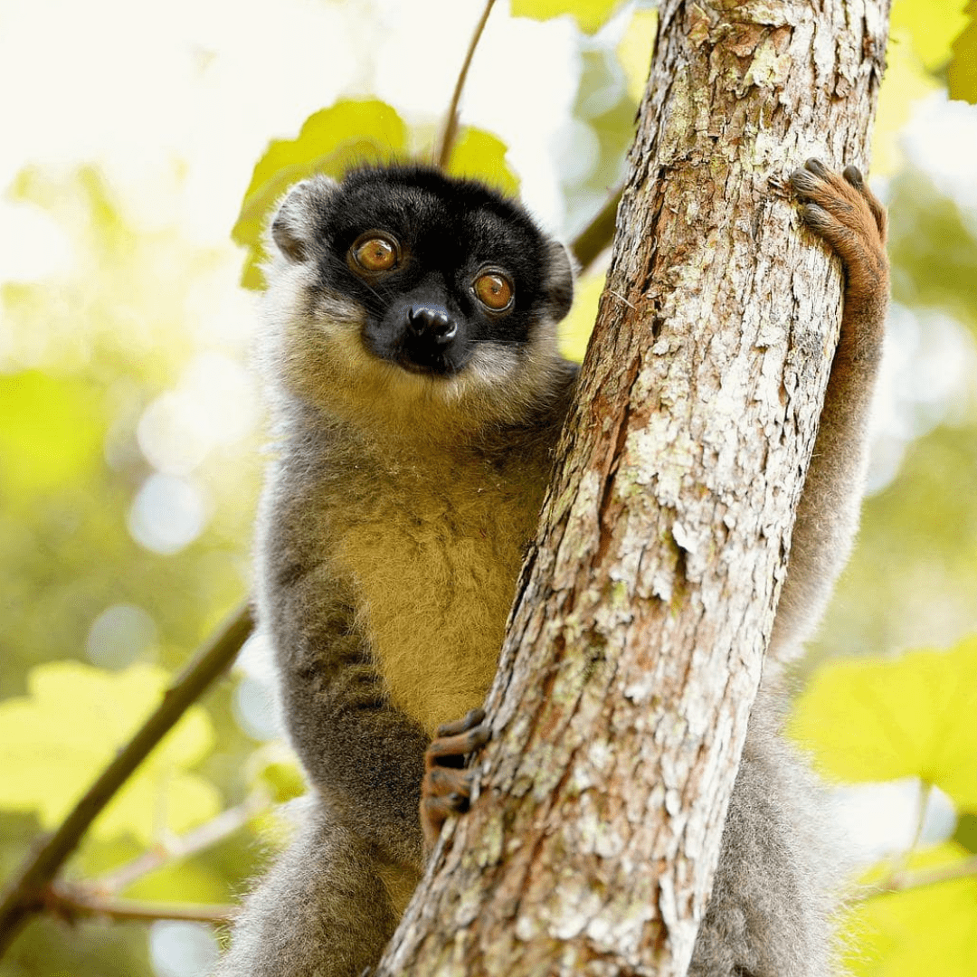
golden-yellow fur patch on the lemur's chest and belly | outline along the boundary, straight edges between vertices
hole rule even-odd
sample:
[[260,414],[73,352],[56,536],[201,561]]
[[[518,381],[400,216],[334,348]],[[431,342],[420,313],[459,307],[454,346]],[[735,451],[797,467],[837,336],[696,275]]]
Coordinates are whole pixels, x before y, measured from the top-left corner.
[[479,460],[390,465],[375,504],[339,528],[391,699],[429,733],[488,692],[540,501],[527,474],[514,485]]

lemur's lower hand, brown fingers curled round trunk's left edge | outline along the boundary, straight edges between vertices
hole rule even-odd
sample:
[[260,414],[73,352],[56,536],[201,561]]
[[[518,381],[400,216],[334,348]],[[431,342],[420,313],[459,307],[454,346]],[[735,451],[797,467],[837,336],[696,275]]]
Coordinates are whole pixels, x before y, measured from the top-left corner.
[[428,850],[434,847],[446,818],[468,810],[472,794],[471,770],[465,756],[488,743],[485,710],[472,709],[464,719],[442,726],[424,754],[421,782],[421,828]]

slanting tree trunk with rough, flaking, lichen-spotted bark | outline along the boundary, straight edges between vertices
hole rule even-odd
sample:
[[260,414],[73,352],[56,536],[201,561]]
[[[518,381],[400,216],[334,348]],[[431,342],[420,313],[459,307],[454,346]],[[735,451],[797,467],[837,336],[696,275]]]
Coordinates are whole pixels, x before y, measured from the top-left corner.
[[779,183],[865,164],[887,0],[666,0],[481,791],[381,975],[681,977],[839,323]]

